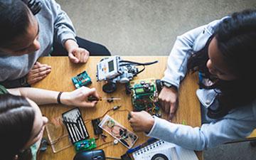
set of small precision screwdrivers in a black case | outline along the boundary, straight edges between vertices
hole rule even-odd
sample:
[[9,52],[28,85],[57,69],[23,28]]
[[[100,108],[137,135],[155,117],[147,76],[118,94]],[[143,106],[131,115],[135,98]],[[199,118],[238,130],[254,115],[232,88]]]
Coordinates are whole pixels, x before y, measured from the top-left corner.
[[89,137],[78,107],[63,113],[62,116],[65,127],[68,130],[68,135],[73,144]]

